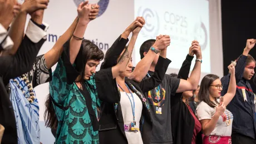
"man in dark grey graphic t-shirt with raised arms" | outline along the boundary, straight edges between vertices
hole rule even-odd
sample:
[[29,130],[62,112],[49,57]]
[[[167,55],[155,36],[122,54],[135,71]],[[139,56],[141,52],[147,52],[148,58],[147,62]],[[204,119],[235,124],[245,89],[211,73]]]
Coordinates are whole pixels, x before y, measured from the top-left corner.
[[[156,40],[160,40],[157,38]],[[150,69],[145,76],[149,78],[155,70],[155,65],[157,63],[159,54],[162,57],[166,57],[166,50],[159,52],[155,47],[155,39],[146,40],[140,47],[141,59],[144,58],[146,54],[157,53],[157,56],[152,57],[153,62],[150,65]],[[198,87],[201,74],[201,49],[199,43],[194,40],[191,45],[194,54],[196,55],[196,63],[193,71],[191,72],[189,80],[172,78],[170,75],[166,74],[162,83],[157,86],[157,88],[146,92],[147,99],[150,103],[150,111],[152,117],[152,133],[151,137],[148,138],[148,143],[159,144],[159,143],[173,143],[173,136],[171,133],[171,96],[174,96],[176,92],[184,92],[195,90]],[[136,69],[136,68],[135,68]],[[130,78],[133,79],[133,78]]]

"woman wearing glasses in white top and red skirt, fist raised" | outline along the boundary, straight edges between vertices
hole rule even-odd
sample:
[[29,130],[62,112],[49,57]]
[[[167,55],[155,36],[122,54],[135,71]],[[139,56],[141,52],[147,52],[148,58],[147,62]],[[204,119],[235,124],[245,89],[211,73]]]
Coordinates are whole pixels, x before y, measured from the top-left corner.
[[205,135],[203,143],[231,143],[233,115],[226,106],[233,99],[236,90],[235,67],[228,66],[230,76],[229,88],[224,100],[217,100],[223,88],[219,76],[209,74],[201,81],[196,108],[196,116]]

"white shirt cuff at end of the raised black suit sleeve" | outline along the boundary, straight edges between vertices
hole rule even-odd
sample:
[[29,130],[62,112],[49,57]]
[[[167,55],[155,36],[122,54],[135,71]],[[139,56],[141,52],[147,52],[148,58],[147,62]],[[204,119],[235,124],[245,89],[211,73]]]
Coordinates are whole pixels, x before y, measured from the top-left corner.
[[45,29],[38,27],[32,20],[29,20],[26,35],[33,43],[38,43],[42,38],[46,39],[46,30],[49,26],[46,23],[43,23],[43,25],[46,26]]

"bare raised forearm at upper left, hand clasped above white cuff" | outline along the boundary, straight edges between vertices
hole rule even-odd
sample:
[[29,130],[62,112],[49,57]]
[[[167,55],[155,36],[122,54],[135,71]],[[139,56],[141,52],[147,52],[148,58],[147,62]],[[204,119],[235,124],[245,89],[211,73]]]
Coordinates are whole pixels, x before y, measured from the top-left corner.
[[[11,27],[9,28],[9,37],[13,40],[13,48],[9,49],[7,51],[4,51],[3,55],[14,55],[16,54],[19,45],[21,45],[21,42],[24,37],[24,27],[26,24],[27,14],[31,14],[33,20],[39,25],[42,24],[42,15],[43,15],[43,9],[46,9],[48,5],[48,0],[32,0],[32,1],[24,1],[24,3],[21,6],[21,12],[18,13],[17,17],[14,19]],[[40,10],[40,13],[33,13]],[[33,14],[32,14],[33,13]],[[40,15],[38,15],[40,14]]]

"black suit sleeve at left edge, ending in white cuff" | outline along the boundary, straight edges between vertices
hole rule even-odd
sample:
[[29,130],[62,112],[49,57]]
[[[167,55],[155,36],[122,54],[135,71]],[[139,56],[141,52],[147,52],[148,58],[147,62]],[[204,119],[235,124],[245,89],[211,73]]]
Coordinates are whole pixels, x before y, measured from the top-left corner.
[[41,39],[38,43],[33,43],[25,35],[15,55],[0,57],[0,75],[3,76],[5,84],[8,83],[9,79],[27,73],[32,69],[43,43],[45,43],[45,39]]

